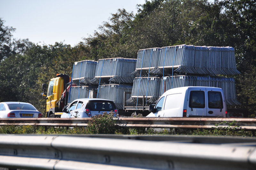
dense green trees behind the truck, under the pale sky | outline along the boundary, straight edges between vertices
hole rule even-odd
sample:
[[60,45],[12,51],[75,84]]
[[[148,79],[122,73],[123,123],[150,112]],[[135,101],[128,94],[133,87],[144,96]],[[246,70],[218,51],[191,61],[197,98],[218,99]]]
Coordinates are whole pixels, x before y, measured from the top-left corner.
[[0,18],[0,101],[29,102],[43,112],[41,84],[56,73],[71,75],[75,61],[136,58],[139,49],[193,44],[235,48],[237,98],[245,108],[249,97],[249,114],[256,113],[255,1],[145,1],[136,15],[119,9],[75,47],[12,40],[13,31]]

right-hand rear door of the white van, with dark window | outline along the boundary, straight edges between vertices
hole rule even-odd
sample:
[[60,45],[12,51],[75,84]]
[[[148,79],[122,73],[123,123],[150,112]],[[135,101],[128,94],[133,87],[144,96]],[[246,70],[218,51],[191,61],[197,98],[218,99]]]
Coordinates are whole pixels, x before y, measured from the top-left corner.
[[221,89],[206,88],[207,92],[207,116],[225,117],[225,103]]

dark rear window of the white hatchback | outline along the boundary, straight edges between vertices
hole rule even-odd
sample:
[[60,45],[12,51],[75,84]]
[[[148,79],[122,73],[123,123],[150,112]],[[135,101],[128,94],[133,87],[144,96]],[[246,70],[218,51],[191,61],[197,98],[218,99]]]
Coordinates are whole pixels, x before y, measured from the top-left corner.
[[114,111],[115,105],[108,101],[89,101],[86,105],[90,111]]

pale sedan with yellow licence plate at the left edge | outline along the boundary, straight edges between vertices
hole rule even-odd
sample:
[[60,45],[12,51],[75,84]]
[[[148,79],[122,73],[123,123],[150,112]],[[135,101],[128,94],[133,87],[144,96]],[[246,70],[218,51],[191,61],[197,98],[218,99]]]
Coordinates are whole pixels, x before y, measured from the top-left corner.
[[42,118],[42,113],[30,103],[1,102],[0,118]]

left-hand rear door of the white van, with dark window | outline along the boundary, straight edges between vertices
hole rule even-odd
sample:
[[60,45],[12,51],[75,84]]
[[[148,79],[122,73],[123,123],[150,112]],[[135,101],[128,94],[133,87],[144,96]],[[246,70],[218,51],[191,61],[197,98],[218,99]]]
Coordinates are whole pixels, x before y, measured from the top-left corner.
[[205,87],[188,88],[187,115],[189,117],[207,116]]

